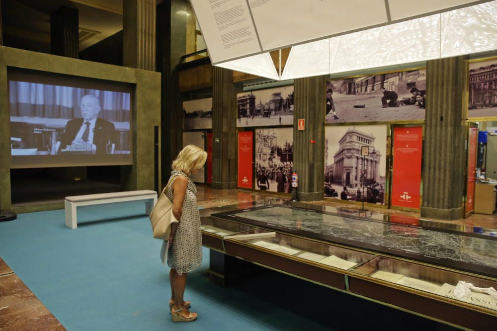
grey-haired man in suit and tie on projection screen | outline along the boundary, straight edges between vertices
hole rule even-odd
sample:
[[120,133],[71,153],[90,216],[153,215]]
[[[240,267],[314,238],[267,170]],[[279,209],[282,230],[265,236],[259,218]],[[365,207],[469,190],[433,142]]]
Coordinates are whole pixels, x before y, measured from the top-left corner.
[[80,107],[83,118],[67,122],[59,151],[112,153],[109,147],[114,142],[115,128],[112,122],[97,118],[101,109],[100,100],[92,94],[86,94],[81,98]]

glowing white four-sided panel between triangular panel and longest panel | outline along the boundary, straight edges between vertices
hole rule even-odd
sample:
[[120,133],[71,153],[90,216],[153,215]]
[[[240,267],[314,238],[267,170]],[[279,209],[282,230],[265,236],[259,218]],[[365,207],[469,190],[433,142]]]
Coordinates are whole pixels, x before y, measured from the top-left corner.
[[330,73],[330,39],[292,47],[281,80]]

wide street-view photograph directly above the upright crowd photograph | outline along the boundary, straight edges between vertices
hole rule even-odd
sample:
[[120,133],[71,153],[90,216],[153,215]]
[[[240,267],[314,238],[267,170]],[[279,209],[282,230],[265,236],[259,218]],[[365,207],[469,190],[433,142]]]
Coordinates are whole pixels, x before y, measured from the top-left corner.
[[237,127],[293,125],[293,85],[237,94]]

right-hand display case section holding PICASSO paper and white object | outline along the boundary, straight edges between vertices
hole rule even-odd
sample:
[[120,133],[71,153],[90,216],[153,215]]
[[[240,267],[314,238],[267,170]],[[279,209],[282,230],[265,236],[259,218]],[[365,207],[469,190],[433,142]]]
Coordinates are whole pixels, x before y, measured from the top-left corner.
[[385,256],[349,271],[349,291],[362,296],[472,330],[496,323],[495,278]]

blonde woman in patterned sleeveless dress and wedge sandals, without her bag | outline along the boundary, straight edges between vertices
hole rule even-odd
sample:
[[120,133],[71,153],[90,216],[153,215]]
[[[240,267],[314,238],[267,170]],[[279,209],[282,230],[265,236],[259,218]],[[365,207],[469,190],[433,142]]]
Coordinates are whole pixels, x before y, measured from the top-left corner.
[[198,212],[197,188],[190,179],[205,163],[207,153],[195,145],[188,145],[172,163],[171,185],[166,194],[172,201],[172,213],[179,223],[171,227],[167,265],[171,268],[171,300],[169,308],[173,322],[191,322],[197,313],[188,311],[189,301],[183,300],[188,272],[202,262],[202,232]]

